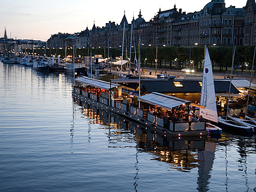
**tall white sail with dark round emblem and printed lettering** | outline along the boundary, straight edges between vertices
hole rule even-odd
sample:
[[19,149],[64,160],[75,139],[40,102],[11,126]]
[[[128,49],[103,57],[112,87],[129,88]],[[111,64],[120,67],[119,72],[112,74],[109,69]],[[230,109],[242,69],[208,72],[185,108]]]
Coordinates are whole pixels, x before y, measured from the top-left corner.
[[212,63],[210,62],[210,55],[207,47],[205,48],[205,63],[203,69],[200,105],[205,107],[205,109],[200,108],[200,115],[202,115],[204,119],[218,123]]

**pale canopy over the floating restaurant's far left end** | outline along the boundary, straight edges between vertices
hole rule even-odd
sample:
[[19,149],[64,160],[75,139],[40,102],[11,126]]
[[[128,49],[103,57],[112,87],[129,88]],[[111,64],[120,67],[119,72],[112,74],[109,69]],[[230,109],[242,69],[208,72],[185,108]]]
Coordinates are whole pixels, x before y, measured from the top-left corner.
[[[88,77],[79,77],[77,79],[75,79],[75,81],[77,82],[82,82],[84,84],[88,84],[91,86],[95,86],[97,88],[103,88],[106,90],[110,90],[110,82],[106,82],[104,80],[98,80],[98,79],[90,79]],[[111,84],[111,88],[114,88],[116,86],[120,86],[120,84]]]

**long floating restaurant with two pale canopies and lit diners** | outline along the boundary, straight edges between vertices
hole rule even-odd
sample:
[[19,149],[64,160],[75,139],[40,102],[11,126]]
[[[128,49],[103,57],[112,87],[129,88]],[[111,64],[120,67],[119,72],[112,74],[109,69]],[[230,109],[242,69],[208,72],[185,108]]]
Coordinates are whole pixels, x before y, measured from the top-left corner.
[[[174,138],[207,136],[205,121],[189,121],[191,111],[195,112],[200,107],[189,100],[158,92],[139,97],[136,93],[127,96],[122,92],[121,84],[88,77],[75,79],[73,97],[98,108],[111,110],[146,127],[158,129]],[[152,110],[148,111],[150,108]],[[178,112],[182,113],[182,119],[176,119]]]

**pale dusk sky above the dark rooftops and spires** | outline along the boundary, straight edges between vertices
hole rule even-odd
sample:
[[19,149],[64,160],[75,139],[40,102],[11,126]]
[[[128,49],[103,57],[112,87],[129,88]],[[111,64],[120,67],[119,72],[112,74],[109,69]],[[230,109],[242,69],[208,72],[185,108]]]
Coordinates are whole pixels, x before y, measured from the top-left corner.
[[[8,38],[33,39],[46,41],[51,34],[58,32],[67,32],[73,34],[85,30],[88,26],[92,28],[94,21],[96,26],[105,26],[106,22],[112,21],[116,24],[121,22],[123,13],[129,23],[141,14],[144,20],[149,21],[157,14],[159,8],[162,11],[174,8],[182,9],[186,13],[201,11],[210,0],[54,0],[38,1],[26,0],[16,1],[9,0],[3,3],[1,0],[0,9],[0,37],[4,35],[4,28],[7,28]],[[156,3],[159,2],[159,3]],[[232,1],[226,0],[226,7],[230,5],[242,8],[246,5],[247,0]]]

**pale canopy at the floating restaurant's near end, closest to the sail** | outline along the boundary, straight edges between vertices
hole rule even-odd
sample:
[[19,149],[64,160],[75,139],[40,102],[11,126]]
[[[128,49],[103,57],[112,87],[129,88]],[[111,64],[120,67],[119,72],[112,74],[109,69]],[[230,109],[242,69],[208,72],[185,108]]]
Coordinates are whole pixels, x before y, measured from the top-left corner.
[[180,98],[175,98],[173,96],[168,96],[166,94],[160,94],[158,92],[152,92],[150,94],[140,96],[138,99],[142,102],[146,102],[154,106],[160,106],[167,110],[171,110],[171,108],[174,108],[182,104],[192,103],[191,101],[182,100]]

